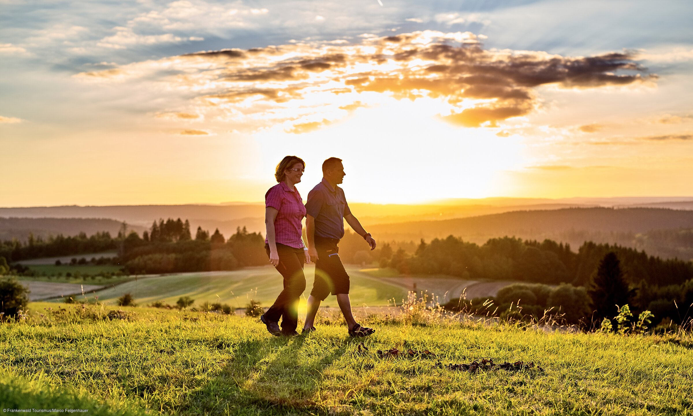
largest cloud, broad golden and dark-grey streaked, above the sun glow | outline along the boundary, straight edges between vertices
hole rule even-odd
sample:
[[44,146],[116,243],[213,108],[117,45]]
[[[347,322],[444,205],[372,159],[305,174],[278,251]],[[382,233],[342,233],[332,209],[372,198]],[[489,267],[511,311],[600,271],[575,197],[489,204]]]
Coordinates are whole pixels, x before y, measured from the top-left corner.
[[321,120],[333,122],[349,106],[375,105],[382,97],[437,100],[447,109],[439,116],[448,123],[497,127],[532,114],[540,102],[537,87],[596,89],[657,79],[630,52],[566,57],[488,50],[478,39],[470,32],[436,30],[362,35],[355,44],[200,51],[77,76],[181,91],[192,96],[188,113],[256,127],[289,122],[291,132],[324,126]]

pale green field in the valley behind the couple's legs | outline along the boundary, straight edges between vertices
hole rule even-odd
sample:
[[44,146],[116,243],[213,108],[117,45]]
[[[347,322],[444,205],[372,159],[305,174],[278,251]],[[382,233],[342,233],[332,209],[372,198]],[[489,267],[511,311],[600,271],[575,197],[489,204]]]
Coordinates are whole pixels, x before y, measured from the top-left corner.
[[[306,291],[301,300],[303,307],[313,287],[315,266],[306,265]],[[354,306],[383,306],[388,300],[395,298],[401,302],[406,298],[406,289],[396,284],[382,282],[371,278],[358,269],[348,268],[351,276],[351,300]],[[90,281],[90,280],[89,280]],[[281,292],[283,280],[272,266],[250,267],[236,271],[220,271],[207,273],[182,273],[130,280],[116,287],[96,292],[98,300],[107,304],[115,304],[117,298],[124,293],[135,296],[139,305],[161,300],[175,305],[181,296],[195,299],[195,305],[202,302],[222,302],[233,307],[245,307],[249,299],[261,302],[269,307]],[[94,294],[87,298],[93,298]],[[337,300],[328,296],[323,305],[336,307]]]

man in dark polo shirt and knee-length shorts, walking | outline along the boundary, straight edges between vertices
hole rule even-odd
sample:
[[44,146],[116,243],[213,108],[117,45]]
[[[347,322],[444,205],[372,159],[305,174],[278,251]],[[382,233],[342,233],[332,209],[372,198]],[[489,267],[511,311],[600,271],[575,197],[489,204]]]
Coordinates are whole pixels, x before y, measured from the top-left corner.
[[371,246],[376,248],[376,240],[363,229],[356,217],[351,214],[344,190],[339,185],[344,180],[342,159],[331,157],[322,163],[322,181],[308,194],[306,202],[306,236],[308,255],[315,262],[315,282],[308,297],[308,313],[303,333],[315,331],[313,323],[320,302],[329,293],[337,296],[344,319],[349,326],[349,335],[368,336],[375,329],[362,327],[351,314],[349,300],[349,275],[340,260],[337,243],[344,237],[344,221]]

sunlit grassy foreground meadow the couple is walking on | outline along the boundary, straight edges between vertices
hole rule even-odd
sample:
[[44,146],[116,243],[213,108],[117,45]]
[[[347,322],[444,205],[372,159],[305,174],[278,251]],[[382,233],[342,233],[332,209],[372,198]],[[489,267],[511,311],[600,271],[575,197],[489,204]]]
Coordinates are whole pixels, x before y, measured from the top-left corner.
[[[53,308],[49,310],[48,308]],[[55,309],[59,310],[56,311]],[[2,408],[177,415],[691,415],[693,340],[371,318],[276,338],[256,319],[150,308],[30,305],[0,325]],[[62,309],[62,310],[61,310]],[[44,316],[40,316],[40,314]],[[123,314],[121,314],[123,316]],[[376,350],[430,350],[379,358]],[[492,357],[543,370],[446,368]],[[442,366],[436,366],[439,360]]]

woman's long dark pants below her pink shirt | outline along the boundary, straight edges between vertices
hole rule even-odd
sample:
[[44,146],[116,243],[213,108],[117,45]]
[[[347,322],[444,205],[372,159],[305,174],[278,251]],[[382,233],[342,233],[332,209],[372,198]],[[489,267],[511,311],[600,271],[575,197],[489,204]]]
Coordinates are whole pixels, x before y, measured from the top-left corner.
[[[270,257],[270,246],[265,244],[267,257]],[[265,312],[265,318],[272,322],[281,320],[281,332],[292,334],[298,325],[299,300],[301,293],[306,290],[306,276],[303,273],[303,265],[306,260],[303,248],[294,248],[277,243],[279,264],[274,266],[284,278],[284,289],[277,296],[274,305]]]

